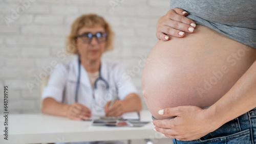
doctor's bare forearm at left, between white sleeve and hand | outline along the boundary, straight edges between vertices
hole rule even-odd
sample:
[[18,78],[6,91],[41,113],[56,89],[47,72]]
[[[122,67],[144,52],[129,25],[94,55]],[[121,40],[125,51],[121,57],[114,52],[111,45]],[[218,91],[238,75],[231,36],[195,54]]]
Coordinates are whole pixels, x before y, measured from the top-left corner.
[[45,98],[42,101],[41,112],[45,114],[67,116],[67,110],[69,107],[70,105],[59,103],[53,98]]

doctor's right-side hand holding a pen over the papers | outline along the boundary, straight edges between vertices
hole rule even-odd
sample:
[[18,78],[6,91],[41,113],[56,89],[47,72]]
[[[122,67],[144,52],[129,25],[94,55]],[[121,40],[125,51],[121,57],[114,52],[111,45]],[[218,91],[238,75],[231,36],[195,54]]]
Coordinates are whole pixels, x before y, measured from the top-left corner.
[[120,116],[124,113],[124,102],[117,100],[109,107],[111,101],[104,106],[106,116]]

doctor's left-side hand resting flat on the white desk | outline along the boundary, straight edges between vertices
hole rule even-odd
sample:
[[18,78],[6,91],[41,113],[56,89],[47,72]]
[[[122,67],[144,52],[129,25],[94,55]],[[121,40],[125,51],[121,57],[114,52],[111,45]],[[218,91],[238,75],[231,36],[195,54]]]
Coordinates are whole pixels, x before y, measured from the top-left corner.
[[77,121],[89,119],[91,117],[91,110],[79,103],[74,103],[73,105],[69,105],[67,109],[67,117]]

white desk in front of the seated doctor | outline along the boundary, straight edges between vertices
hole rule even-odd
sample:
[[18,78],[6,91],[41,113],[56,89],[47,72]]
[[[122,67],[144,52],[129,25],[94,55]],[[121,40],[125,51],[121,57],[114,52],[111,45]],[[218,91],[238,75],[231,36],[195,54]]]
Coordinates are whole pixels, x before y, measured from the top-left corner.
[[[152,121],[148,111],[140,112],[141,121]],[[153,130],[152,123],[144,127],[99,127],[92,122],[72,121],[66,117],[45,114],[9,115],[9,140],[1,130],[0,143],[51,143],[96,140],[153,139],[163,136]],[[3,123],[2,123],[3,124]]]

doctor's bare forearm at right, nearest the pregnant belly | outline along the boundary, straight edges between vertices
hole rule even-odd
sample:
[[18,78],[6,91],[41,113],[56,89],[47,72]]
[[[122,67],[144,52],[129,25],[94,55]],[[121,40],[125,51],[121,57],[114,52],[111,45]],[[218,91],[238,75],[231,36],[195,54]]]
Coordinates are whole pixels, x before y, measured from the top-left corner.
[[142,109],[141,100],[136,93],[126,95],[123,100],[124,112],[140,111]]

